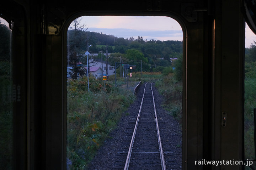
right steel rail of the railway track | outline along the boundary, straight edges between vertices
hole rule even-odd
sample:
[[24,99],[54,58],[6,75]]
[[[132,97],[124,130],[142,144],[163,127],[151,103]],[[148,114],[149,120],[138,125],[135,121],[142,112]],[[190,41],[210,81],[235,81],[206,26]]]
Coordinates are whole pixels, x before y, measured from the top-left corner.
[[160,131],[159,131],[159,126],[158,126],[158,118],[156,115],[155,99],[154,99],[154,94],[153,94],[153,89],[152,89],[152,83],[150,84],[150,87],[151,87],[153,103],[154,103],[155,121],[156,121],[156,130],[157,130],[157,134],[158,134],[158,145],[159,145],[160,159],[161,159],[162,170],[166,170],[165,160],[164,160],[164,152],[162,150],[162,142],[161,142]]

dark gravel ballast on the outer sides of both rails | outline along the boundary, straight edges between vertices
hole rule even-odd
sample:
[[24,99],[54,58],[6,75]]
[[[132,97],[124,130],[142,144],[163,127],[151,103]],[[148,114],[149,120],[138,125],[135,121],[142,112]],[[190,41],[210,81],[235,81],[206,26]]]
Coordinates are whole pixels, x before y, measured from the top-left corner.
[[[137,98],[123,113],[122,118],[117,124],[103,145],[98,149],[94,159],[89,163],[88,170],[112,170],[123,169],[127,157],[127,152],[132,138],[134,122],[139,112],[144,85],[141,85]],[[152,84],[156,113],[158,115],[159,129],[165,154],[165,162],[172,161],[172,166],[166,169],[182,169],[182,130],[181,125],[168,112],[161,107],[162,96]],[[168,148],[165,148],[168,147]],[[171,149],[170,149],[171,148]]]

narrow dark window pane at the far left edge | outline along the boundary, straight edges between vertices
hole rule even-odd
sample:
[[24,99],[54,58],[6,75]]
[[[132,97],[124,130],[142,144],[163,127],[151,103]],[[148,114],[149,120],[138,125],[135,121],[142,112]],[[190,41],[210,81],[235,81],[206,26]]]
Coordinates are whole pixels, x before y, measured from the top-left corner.
[[0,18],[0,169],[12,169],[12,32]]

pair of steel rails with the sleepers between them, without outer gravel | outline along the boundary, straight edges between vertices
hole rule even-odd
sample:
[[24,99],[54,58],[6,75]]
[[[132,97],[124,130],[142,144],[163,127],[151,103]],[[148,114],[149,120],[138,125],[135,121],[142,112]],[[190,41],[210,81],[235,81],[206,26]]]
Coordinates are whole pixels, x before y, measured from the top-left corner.
[[124,170],[166,170],[152,83],[146,83]]

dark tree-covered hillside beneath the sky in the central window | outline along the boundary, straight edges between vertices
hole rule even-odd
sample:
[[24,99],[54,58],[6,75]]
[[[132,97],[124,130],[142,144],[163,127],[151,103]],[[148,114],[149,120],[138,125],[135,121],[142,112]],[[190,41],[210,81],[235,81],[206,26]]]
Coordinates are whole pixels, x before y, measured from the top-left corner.
[[[103,50],[106,53],[106,45],[108,45],[108,53],[118,53],[117,57],[125,57],[126,51],[135,49],[143,53],[144,57],[148,58],[149,64],[156,64],[157,66],[169,67],[172,65],[170,58],[179,58],[182,56],[183,42],[178,40],[144,40],[142,36],[130,37],[129,39],[117,37],[114,35],[97,33],[97,32],[83,32],[79,34],[68,31],[70,35],[70,47],[76,42],[75,49],[79,49],[82,52],[86,51],[86,39],[87,34],[89,38],[89,51],[100,52]],[[74,41],[74,36],[76,40]]]

